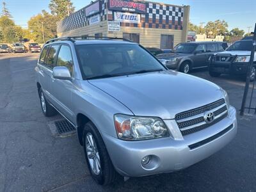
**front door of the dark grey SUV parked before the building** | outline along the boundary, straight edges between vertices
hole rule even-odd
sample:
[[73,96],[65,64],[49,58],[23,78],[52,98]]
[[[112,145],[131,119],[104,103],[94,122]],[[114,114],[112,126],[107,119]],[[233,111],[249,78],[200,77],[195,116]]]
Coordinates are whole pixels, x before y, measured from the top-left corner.
[[205,66],[205,56],[206,54],[206,46],[205,44],[199,44],[197,45],[194,55],[192,56],[193,60],[193,68],[200,68]]

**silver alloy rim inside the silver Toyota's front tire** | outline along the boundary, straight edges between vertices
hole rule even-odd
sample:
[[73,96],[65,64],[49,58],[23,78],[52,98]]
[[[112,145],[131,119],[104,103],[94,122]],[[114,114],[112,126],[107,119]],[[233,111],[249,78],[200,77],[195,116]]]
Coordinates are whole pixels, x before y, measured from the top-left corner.
[[100,173],[99,151],[95,143],[95,140],[93,138],[93,135],[90,132],[86,134],[85,145],[86,145],[86,154],[88,157],[90,167],[93,173],[95,173],[95,175],[99,175]]

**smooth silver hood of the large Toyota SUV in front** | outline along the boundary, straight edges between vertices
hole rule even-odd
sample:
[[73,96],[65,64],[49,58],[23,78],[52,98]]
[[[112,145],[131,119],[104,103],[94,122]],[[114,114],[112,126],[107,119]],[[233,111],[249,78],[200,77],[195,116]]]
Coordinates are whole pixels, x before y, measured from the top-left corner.
[[134,115],[173,119],[188,111],[223,98],[219,86],[204,79],[174,71],[89,80]]

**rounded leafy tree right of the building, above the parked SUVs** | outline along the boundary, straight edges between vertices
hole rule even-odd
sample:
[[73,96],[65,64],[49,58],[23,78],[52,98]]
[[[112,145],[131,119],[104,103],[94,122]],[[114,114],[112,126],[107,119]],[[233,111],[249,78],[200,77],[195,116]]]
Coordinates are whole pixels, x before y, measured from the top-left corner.
[[225,35],[228,33],[228,24],[225,20],[209,21],[205,26],[205,32],[207,35]]

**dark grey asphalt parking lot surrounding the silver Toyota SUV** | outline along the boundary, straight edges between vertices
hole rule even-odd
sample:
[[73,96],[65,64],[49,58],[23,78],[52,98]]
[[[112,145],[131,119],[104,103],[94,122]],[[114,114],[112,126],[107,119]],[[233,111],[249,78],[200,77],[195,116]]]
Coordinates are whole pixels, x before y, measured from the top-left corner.
[[[55,138],[41,112],[35,84],[38,54],[0,55],[0,191],[256,191],[256,116],[237,116],[236,138],[213,156],[176,173],[121,178],[98,186],[76,135]],[[238,110],[243,79],[192,75],[227,90]],[[202,90],[202,93],[204,90]]]

